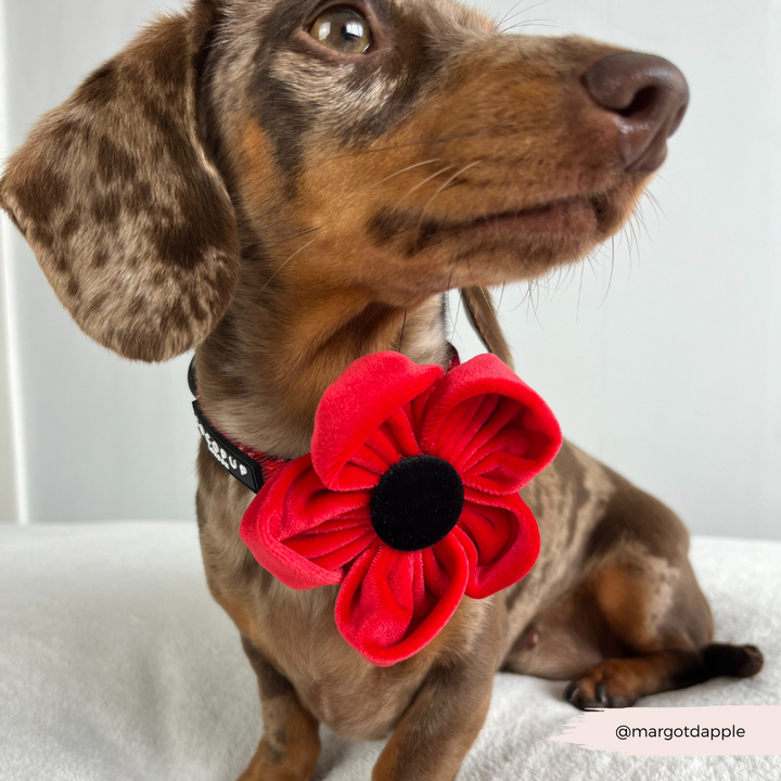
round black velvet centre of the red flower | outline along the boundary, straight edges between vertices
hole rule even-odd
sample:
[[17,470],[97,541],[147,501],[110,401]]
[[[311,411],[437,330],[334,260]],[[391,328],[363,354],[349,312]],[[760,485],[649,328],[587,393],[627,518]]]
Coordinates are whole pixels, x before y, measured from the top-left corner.
[[434,456],[413,456],[382,476],[369,509],[383,542],[396,550],[418,551],[450,534],[463,501],[463,483],[451,464]]

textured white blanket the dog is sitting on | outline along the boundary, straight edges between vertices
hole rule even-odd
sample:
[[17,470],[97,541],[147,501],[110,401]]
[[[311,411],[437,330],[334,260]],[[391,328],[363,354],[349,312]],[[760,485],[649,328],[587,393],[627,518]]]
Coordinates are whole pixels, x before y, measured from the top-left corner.
[[[717,639],[753,642],[754,679],[641,701],[781,704],[781,542],[695,538]],[[781,757],[641,758],[548,738],[576,712],[564,683],[496,679],[459,781],[777,781]],[[184,523],[0,528],[0,779],[233,781],[261,731],[254,675],[212,601]],[[382,743],[321,729],[319,781],[368,781]]]

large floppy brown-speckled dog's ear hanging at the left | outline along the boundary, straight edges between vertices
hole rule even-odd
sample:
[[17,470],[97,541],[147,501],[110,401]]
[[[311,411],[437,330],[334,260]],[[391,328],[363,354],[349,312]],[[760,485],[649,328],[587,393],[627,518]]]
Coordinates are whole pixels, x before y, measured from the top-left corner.
[[93,73],[0,182],[62,304],[127,358],[202,342],[239,277],[235,215],[196,118],[213,3],[159,20]]

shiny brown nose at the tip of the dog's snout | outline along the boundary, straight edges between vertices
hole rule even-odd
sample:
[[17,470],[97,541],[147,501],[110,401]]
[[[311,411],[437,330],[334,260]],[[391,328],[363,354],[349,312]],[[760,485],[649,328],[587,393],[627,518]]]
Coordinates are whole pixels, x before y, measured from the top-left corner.
[[618,52],[596,62],[582,80],[597,105],[614,115],[625,169],[656,170],[689,105],[683,74],[662,57]]

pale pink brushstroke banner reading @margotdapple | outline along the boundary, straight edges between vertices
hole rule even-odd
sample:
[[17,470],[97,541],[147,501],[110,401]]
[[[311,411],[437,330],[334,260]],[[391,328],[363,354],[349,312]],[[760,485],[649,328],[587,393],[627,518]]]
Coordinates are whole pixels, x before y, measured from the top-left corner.
[[560,743],[628,756],[781,755],[781,706],[636,707],[587,710]]

